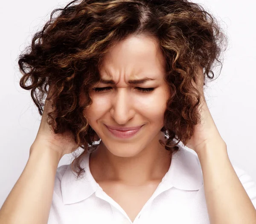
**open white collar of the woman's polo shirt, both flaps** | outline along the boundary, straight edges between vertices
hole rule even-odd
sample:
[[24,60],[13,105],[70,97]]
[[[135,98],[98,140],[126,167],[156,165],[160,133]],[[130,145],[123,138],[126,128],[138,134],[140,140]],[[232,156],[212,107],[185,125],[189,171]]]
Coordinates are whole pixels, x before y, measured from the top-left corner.
[[[61,193],[64,204],[73,204],[91,196],[101,187],[93,178],[89,167],[90,152],[87,153],[80,166],[85,173],[82,179],[70,169],[70,165],[61,179]],[[172,155],[171,165],[162,179],[165,189],[175,187],[180,190],[199,190],[203,185],[203,176],[198,156],[184,148]]]

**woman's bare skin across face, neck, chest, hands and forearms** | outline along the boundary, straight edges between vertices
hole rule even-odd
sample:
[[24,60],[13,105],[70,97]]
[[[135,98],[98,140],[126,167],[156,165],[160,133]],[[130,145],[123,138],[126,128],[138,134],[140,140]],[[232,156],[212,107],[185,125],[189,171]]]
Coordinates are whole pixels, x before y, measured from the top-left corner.
[[[168,88],[163,82],[163,64],[159,63],[161,57],[155,54],[157,45],[154,43],[145,38],[132,38],[116,45],[108,55],[102,75],[113,76],[118,84],[109,92],[93,94],[93,105],[86,111],[91,127],[102,140],[90,157],[92,175],[101,186],[104,185],[104,191],[122,206],[131,221],[152,195],[171,163],[166,150],[157,141],[163,138],[160,123]],[[142,77],[143,74],[157,78],[154,83],[144,84],[147,85],[145,88],[157,87],[148,95],[127,84],[129,78]],[[202,71],[198,76],[203,79]],[[195,150],[201,163],[210,223],[256,224],[256,210],[233,169],[227,145],[204,99],[203,82],[199,79],[196,85],[202,91],[203,122],[195,126],[187,146]],[[0,209],[0,223],[47,223],[59,161],[64,154],[70,153],[71,148],[75,148],[74,142],[67,141],[68,135],[61,134],[56,138],[52,134],[46,123],[48,110],[51,108],[46,102],[26,167]],[[124,141],[110,136],[104,129],[104,123],[120,126],[145,123],[145,126],[138,136]],[[102,185],[104,179],[112,183]],[[148,184],[150,180],[157,181]],[[124,184],[119,184],[120,181]]]

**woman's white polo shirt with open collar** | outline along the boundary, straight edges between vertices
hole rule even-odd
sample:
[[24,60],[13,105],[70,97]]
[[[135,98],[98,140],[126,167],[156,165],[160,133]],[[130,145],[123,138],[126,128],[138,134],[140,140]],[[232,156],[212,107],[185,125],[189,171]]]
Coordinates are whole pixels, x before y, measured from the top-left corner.
[[[81,162],[85,168],[81,180],[76,181],[70,165],[58,167],[48,224],[210,224],[201,165],[191,151],[182,148],[172,157],[168,172],[134,222],[97,184],[89,156]],[[256,208],[255,182],[233,167]]]

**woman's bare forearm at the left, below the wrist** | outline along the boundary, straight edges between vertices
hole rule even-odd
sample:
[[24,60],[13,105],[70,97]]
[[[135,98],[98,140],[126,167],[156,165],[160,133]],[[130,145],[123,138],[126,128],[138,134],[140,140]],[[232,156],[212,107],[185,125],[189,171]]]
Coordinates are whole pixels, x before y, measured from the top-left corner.
[[47,224],[60,157],[34,148],[0,210],[0,224]]

